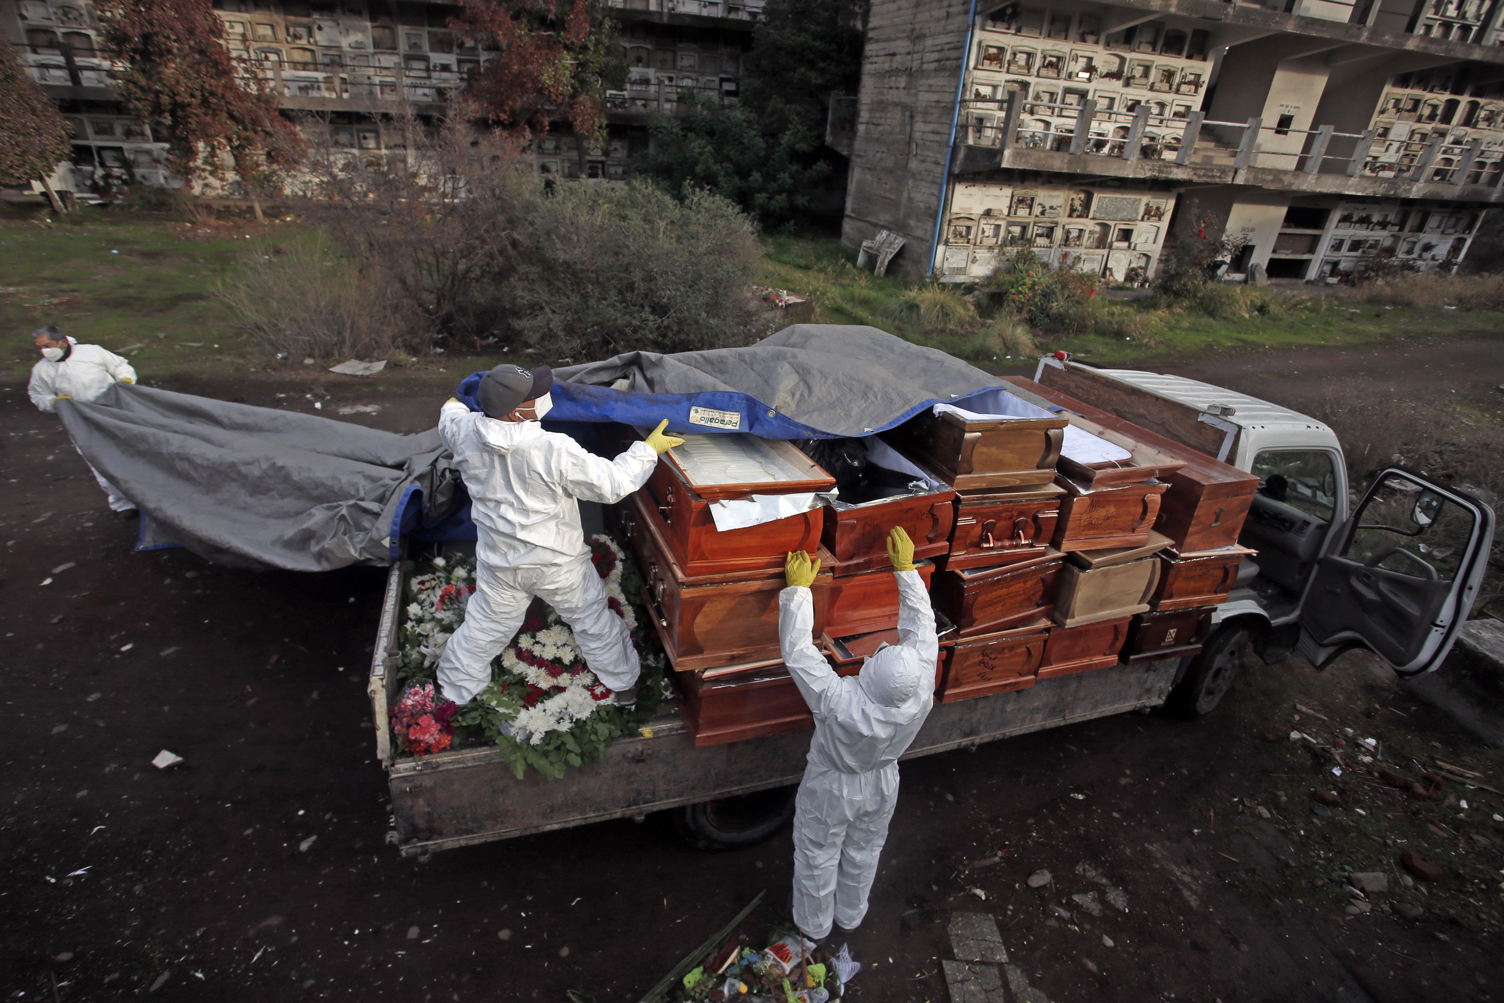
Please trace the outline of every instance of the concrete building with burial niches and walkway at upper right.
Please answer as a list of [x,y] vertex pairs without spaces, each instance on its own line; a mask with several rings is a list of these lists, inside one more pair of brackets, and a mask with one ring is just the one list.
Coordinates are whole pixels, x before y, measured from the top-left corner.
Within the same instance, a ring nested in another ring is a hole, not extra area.
[[872,0],[842,238],[899,233],[893,266],[940,281],[1020,248],[1140,281],[1175,232],[1230,238],[1230,274],[1453,268],[1501,200],[1501,18],[1499,0]]

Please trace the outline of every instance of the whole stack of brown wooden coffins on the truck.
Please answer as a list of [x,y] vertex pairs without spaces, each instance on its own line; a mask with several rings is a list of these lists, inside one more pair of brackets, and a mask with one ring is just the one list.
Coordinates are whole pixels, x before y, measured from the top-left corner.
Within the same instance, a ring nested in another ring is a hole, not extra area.
[[[1250,550],[1257,478],[1027,380],[865,439],[687,436],[621,505],[696,744],[811,726],[779,654],[790,550],[842,675],[898,641],[904,526],[942,624],[943,702],[1191,654]],[[835,489],[835,490],[833,490]]]

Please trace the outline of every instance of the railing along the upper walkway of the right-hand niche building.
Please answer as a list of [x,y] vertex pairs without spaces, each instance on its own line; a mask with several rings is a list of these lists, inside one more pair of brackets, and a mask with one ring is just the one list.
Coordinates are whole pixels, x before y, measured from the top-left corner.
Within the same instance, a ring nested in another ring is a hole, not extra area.
[[1006,99],[963,101],[957,140],[999,150],[1158,159],[1233,171],[1260,168],[1487,186],[1504,180],[1504,149],[1484,149],[1478,138],[1390,140],[1376,129],[1278,128],[1262,119],[1215,122],[1202,111],[1152,114],[1148,102],[1131,111],[1104,111],[1090,99],[1051,104],[1030,101],[1020,92]]

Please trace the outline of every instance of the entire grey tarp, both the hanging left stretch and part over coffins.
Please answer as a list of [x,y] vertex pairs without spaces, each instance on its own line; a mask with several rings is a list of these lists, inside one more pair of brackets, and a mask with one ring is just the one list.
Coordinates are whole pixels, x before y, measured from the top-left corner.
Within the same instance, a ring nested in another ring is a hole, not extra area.
[[[744,432],[778,439],[865,435],[929,402],[999,385],[877,328],[809,323],[744,349],[633,352],[556,376],[573,385],[555,391],[555,418],[671,417],[689,429],[692,408],[713,408],[734,412]],[[635,392],[611,389],[618,380]],[[141,508],[147,543],[180,543],[230,564],[387,564],[409,489],[423,490],[423,522],[433,523],[459,480],[438,430],[403,436],[120,385],[92,403],[60,402],[59,414],[84,459]]]

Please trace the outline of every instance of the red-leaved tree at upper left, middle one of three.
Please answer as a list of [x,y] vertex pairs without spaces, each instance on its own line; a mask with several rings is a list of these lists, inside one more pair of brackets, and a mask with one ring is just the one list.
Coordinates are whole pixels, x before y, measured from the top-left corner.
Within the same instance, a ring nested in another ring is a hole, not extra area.
[[305,147],[266,78],[235,65],[209,0],[99,0],[96,9],[116,89],[167,143],[171,173],[191,186],[233,170],[260,217],[257,192],[280,186]]

